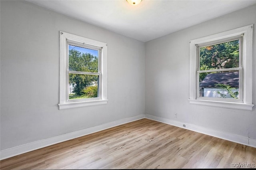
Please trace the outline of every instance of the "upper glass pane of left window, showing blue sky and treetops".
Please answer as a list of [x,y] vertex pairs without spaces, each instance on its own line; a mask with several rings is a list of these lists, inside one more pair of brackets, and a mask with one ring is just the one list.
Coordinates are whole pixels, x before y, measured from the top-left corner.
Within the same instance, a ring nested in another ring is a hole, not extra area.
[[98,54],[95,49],[68,45],[70,71],[98,72]]

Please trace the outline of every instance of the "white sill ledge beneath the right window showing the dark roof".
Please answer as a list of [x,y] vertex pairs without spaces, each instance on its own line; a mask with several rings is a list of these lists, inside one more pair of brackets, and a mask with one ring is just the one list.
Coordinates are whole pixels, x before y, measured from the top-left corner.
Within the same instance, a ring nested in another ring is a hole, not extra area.
[[213,106],[213,107],[223,107],[229,109],[240,109],[252,111],[253,104],[246,103],[233,103],[226,101],[208,101],[208,100],[198,100],[198,99],[188,99],[189,103],[196,105],[204,105],[204,106]]

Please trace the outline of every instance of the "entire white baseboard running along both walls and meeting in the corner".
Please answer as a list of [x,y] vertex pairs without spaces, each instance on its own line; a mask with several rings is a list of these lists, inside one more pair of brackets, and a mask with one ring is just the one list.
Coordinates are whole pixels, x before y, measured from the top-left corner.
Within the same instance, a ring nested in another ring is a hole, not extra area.
[[[151,119],[151,120],[154,120],[154,121],[166,123],[166,124],[173,125],[173,126],[180,127],[180,128],[185,128],[185,129],[192,130],[192,131],[195,131],[195,132],[207,134],[207,135],[210,135],[210,136],[214,136],[214,137],[217,137],[217,138],[222,138],[224,140],[229,140],[229,141],[232,141],[232,142],[236,142],[236,143],[240,143],[240,144],[244,144],[244,145],[252,146],[252,147],[256,148],[256,140],[255,139],[250,139],[248,137],[244,137],[244,136],[240,136],[240,135],[236,135],[236,134],[231,134],[231,133],[223,132],[223,131],[219,131],[219,130],[214,130],[214,129],[210,129],[210,128],[200,127],[198,125],[192,125],[192,124],[188,124],[188,123],[182,123],[182,122],[179,122],[179,121],[174,121],[174,120],[171,120],[171,119],[156,117],[156,116],[153,116],[153,115],[148,115],[148,114],[144,115],[144,114],[142,114],[142,115],[138,115],[138,116],[134,116],[134,117],[121,119],[121,120],[118,120],[118,121],[113,121],[113,122],[110,122],[110,123],[105,123],[103,125],[98,125],[98,126],[95,126],[95,127],[90,127],[90,128],[86,128],[86,129],[82,129],[82,130],[77,130],[77,131],[62,134],[62,135],[59,135],[59,136],[54,136],[54,137],[39,140],[39,141],[36,141],[36,142],[32,142],[32,143],[28,143],[28,144],[24,144],[24,145],[20,145],[20,146],[15,146],[15,147],[12,147],[12,148],[0,150],[0,160],[10,158],[12,156],[16,156],[16,155],[19,155],[19,154],[23,154],[23,153],[26,153],[26,152],[30,152],[32,150],[44,148],[46,146],[50,146],[50,145],[53,145],[53,144],[56,144],[56,143],[64,142],[64,141],[67,141],[67,140],[70,140],[70,139],[78,138],[80,136],[84,136],[84,135],[91,134],[91,133],[94,133],[94,132],[98,132],[98,131],[101,131],[101,130],[105,130],[105,129],[108,129],[108,128],[116,127],[118,125],[123,125],[125,123],[133,122],[133,121],[143,119],[143,118],[147,118],[147,119]],[[183,124],[185,124],[186,127],[183,127]]]

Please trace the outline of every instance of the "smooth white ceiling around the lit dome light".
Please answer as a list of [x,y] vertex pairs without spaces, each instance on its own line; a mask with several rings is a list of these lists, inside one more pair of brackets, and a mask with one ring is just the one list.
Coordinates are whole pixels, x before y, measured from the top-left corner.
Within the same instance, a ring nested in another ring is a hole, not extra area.
[[89,24],[147,42],[256,4],[256,0],[27,0]]

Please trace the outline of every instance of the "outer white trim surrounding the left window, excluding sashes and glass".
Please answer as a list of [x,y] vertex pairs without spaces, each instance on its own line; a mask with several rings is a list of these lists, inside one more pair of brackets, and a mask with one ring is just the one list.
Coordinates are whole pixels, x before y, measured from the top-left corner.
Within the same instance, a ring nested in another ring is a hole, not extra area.
[[[84,101],[68,101],[66,94],[68,88],[66,83],[68,69],[67,41],[80,42],[102,48],[101,56],[99,56],[101,57],[101,62],[99,62],[99,70],[101,74],[101,78],[99,80],[100,83],[98,85],[98,87],[101,89],[99,99],[92,98],[92,100],[86,99]],[[107,53],[108,51],[106,43],[60,31],[60,103],[58,104],[60,110],[107,104]]]

